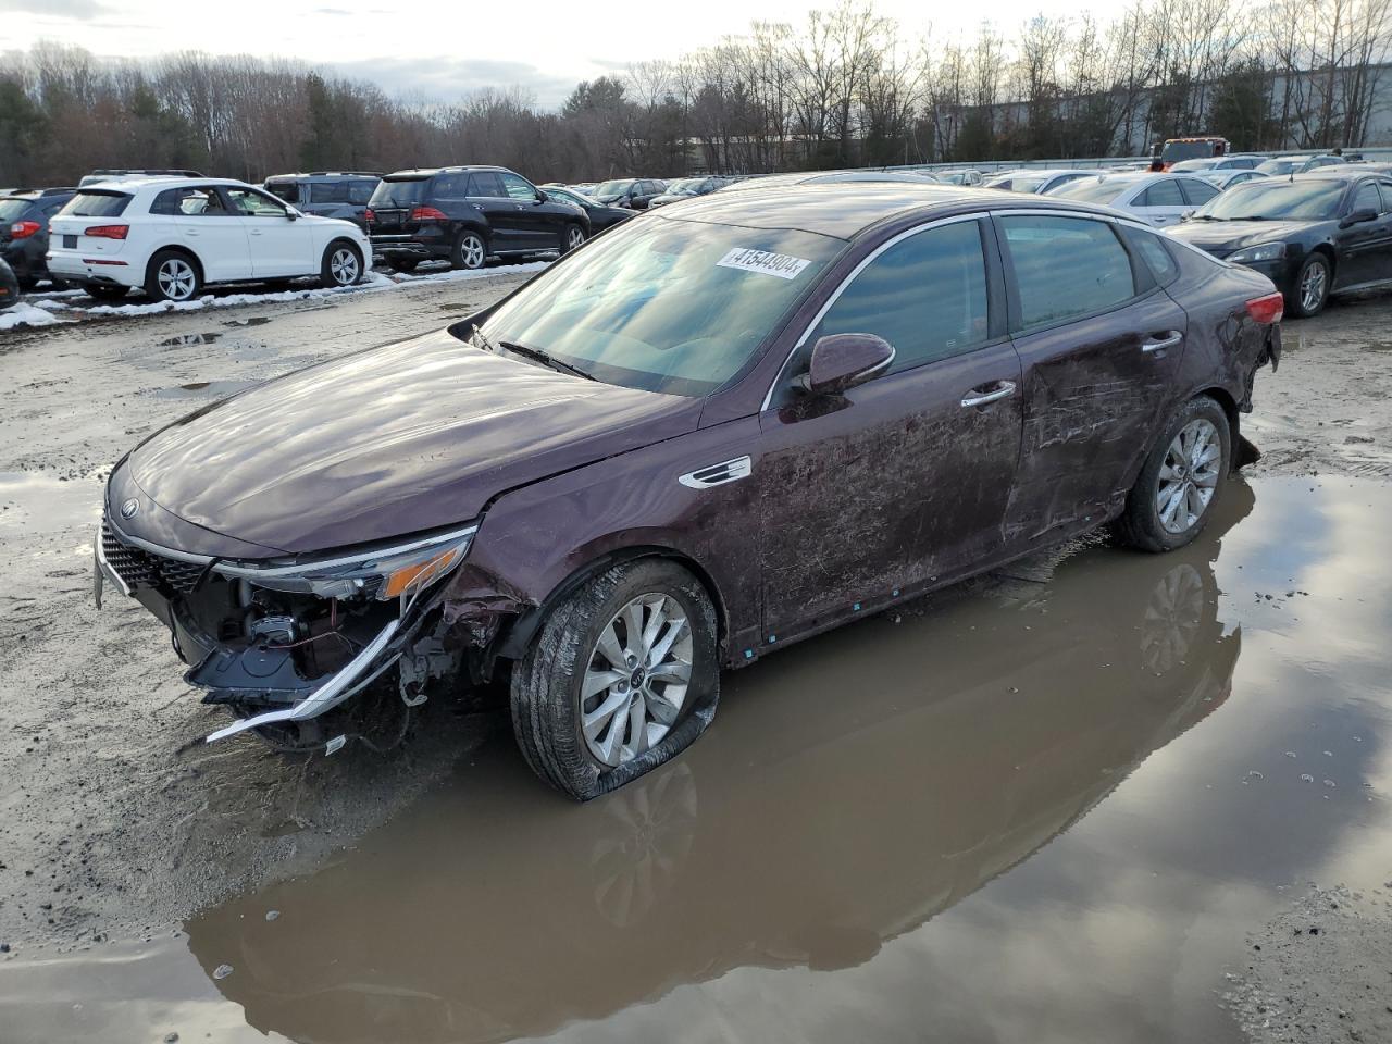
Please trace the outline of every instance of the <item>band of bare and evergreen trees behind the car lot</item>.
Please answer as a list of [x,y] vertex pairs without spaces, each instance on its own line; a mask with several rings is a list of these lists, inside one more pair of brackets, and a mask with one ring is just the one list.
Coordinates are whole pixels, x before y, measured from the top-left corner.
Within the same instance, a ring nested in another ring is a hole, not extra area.
[[752,174],[1139,155],[1205,131],[1239,149],[1357,146],[1389,46],[1392,0],[1132,0],[1105,24],[1041,15],[952,39],[844,0],[582,82],[547,110],[516,86],[406,100],[295,61],[40,43],[0,56],[0,185],[99,167]]

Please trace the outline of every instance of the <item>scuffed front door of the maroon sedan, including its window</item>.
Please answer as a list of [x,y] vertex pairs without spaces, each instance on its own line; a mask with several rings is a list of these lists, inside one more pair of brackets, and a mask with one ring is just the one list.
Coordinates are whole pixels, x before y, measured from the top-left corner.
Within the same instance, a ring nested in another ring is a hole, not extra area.
[[[983,231],[955,220],[881,248],[780,379],[760,416],[757,464],[766,640],[999,554],[1020,450],[1020,363]],[[877,334],[895,361],[841,395],[799,391],[812,347],[834,333]]]

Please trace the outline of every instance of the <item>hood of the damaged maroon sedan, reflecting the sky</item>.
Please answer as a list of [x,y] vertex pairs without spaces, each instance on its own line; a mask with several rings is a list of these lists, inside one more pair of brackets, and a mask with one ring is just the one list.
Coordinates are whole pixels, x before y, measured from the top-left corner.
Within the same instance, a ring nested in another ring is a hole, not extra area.
[[128,468],[178,518],[299,554],[465,522],[500,493],[699,418],[700,400],[572,377],[443,330],[217,402]]

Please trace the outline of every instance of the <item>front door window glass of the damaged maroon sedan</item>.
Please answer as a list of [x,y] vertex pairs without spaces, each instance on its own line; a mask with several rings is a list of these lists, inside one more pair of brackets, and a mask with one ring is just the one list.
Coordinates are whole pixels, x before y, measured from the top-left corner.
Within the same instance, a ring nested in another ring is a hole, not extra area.
[[842,291],[807,345],[846,333],[877,334],[892,344],[891,372],[984,344],[990,333],[980,224],[940,226],[889,246]]

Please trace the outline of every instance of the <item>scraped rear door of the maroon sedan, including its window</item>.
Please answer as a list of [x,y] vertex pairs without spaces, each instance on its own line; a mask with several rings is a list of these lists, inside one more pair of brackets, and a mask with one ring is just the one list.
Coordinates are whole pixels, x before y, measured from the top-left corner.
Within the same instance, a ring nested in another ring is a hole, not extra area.
[[1005,530],[1047,543],[1126,496],[1173,406],[1189,319],[1109,221],[998,213],[995,226],[1025,406]]

